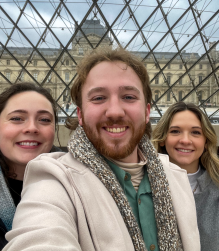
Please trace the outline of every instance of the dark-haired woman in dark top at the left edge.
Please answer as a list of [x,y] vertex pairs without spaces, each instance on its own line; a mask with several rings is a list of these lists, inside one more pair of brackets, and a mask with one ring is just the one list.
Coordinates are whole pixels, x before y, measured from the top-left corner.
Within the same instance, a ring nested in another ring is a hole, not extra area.
[[26,164],[53,146],[56,103],[42,87],[15,84],[0,94],[0,248],[21,199]]

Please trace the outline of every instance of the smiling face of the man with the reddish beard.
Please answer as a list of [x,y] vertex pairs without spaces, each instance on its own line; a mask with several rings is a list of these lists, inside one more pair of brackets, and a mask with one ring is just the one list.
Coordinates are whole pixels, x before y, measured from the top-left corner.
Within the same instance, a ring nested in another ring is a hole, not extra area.
[[138,161],[137,145],[149,121],[138,75],[123,62],[101,62],[91,69],[82,87],[79,124],[97,149],[113,159]]

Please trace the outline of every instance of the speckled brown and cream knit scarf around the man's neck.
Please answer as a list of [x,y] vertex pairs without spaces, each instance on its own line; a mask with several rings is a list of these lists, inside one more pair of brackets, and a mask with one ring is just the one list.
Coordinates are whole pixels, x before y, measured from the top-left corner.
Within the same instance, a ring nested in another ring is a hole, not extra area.
[[[182,251],[182,242],[163,165],[147,135],[143,136],[139,148],[147,158],[147,171],[154,202],[159,249],[160,251]],[[135,250],[147,250],[123,189],[115,174],[89,141],[81,126],[78,126],[74,131],[68,143],[68,150],[75,159],[86,165],[107,188],[120,210]]]

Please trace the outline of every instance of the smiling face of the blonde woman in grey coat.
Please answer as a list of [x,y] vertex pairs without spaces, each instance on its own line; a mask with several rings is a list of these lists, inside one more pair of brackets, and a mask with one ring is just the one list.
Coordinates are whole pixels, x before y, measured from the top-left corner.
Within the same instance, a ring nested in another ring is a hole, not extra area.
[[183,111],[173,116],[165,140],[166,151],[172,163],[189,173],[196,172],[205,142],[201,122],[193,112]]

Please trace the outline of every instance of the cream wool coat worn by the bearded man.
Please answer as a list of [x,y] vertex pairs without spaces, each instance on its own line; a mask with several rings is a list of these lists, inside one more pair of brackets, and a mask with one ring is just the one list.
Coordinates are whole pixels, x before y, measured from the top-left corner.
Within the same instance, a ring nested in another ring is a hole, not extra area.
[[[185,251],[199,251],[193,194],[186,171],[161,155]],[[134,251],[122,216],[99,179],[70,153],[29,162],[22,201],[4,251]]]

